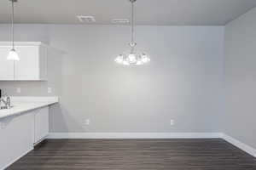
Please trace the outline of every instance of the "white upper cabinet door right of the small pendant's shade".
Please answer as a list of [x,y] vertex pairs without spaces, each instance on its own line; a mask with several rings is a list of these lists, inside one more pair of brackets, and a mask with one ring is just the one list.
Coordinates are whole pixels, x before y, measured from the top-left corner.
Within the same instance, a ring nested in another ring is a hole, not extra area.
[[15,61],[15,80],[39,80],[38,46],[17,46],[20,61]]

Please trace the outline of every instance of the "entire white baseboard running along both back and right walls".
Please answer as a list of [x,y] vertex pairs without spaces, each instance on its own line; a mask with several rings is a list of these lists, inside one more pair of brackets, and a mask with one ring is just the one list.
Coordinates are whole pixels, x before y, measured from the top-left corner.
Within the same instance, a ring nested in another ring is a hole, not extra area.
[[49,133],[48,139],[224,139],[251,156],[256,150],[225,133]]

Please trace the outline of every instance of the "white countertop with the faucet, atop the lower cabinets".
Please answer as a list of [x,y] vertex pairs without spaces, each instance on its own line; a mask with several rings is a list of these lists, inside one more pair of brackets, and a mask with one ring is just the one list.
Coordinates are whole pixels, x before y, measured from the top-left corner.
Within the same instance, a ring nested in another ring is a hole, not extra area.
[[58,103],[57,97],[11,97],[14,101],[11,109],[0,110],[0,119],[7,116],[20,115],[26,111],[32,111],[47,105]]

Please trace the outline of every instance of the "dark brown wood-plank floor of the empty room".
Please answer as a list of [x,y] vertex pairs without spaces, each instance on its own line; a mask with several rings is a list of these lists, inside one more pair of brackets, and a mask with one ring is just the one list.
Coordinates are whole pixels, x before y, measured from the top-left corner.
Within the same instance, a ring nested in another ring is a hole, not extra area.
[[223,139],[47,139],[8,169],[256,170],[256,159]]

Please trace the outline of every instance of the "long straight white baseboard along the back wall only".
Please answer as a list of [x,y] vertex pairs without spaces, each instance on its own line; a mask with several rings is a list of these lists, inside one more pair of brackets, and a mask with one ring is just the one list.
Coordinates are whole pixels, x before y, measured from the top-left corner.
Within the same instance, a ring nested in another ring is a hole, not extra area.
[[49,133],[48,139],[215,139],[221,133]]

